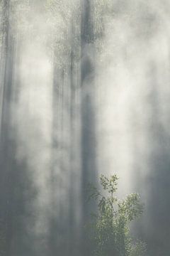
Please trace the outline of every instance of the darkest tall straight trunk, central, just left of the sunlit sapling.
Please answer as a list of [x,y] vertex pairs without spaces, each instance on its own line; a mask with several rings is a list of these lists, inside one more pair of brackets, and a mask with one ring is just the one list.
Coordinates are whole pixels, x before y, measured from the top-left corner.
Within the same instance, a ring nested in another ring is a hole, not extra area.
[[[88,183],[96,183],[96,124],[94,81],[93,1],[82,0],[81,6],[81,161],[83,223],[86,224],[95,206],[86,203]],[[86,255],[88,255],[86,247]]]

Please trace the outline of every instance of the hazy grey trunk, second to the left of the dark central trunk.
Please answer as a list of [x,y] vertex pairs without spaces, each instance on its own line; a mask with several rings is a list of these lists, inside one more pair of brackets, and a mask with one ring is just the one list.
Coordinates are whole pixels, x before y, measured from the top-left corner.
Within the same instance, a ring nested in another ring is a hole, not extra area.
[[[62,132],[63,132],[63,88],[64,68],[60,68],[54,63],[53,89],[52,89],[52,166],[51,166],[51,217],[50,217],[50,255],[56,252],[64,255],[62,235],[64,236],[63,213],[62,213]],[[63,238],[64,241],[64,238]]]

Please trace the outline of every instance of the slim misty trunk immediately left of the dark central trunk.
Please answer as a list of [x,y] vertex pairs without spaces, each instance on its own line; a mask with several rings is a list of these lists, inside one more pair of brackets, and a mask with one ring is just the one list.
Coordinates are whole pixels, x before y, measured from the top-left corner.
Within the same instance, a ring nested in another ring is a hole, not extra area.
[[70,54],[70,145],[69,145],[69,247],[72,256],[78,256],[80,252],[80,215],[81,215],[81,201],[79,194],[81,191],[81,174],[80,174],[80,160],[79,160],[79,88],[77,85],[78,74],[76,73],[76,55],[78,46],[75,43],[77,31],[75,31],[74,15],[72,15],[71,25],[71,54]]

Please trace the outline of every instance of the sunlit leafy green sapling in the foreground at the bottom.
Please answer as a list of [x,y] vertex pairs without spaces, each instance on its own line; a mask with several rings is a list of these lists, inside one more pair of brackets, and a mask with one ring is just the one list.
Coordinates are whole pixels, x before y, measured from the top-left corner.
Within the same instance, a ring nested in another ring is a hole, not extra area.
[[91,221],[90,231],[96,256],[145,256],[145,243],[135,244],[130,237],[130,222],[140,216],[143,206],[137,193],[131,193],[124,200],[115,196],[118,189],[116,175],[107,178],[101,175],[101,187],[89,186],[90,196],[98,201],[98,215]]

